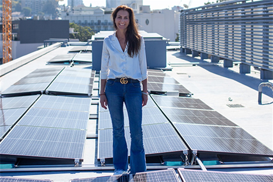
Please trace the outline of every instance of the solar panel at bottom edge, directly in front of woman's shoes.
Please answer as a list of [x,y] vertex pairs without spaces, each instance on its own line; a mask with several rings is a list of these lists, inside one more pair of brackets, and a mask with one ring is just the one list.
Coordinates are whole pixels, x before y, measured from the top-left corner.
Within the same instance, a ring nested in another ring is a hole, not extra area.
[[70,182],[178,182],[178,178],[174,169],[165,169],[159,171],[149,171],[149,172],[138,172],[136,174],[125,174],[125,175],[113,175],[113,176],[103,176],[103,177],[93,177],[84,179],[70,180]]

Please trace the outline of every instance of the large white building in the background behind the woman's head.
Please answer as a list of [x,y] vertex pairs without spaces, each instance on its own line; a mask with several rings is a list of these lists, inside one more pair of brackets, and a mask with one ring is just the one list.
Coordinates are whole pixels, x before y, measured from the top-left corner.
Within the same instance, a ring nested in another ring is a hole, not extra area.
[[[112,1],[108,3],[110,2]],[[61,12],[61,18],[69,20],[70,23],[89,26],[95,32],[114,30],[111,20],[112,11],[113,8],[75,7],[73,10]],[[135,18],[140,30],[156,32],[170,41],[175,41],[179,29],[179,11],[169,9],[151,11],[150,6],[141,5]]]

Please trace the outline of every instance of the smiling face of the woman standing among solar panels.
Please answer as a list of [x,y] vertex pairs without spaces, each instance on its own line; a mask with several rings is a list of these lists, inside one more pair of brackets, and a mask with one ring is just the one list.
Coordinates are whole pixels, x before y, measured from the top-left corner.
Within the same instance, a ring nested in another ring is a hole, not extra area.
[[130,24],[129,13],[126,10],[119,10],[115,18],[115,25],[118,30],[127,30]]

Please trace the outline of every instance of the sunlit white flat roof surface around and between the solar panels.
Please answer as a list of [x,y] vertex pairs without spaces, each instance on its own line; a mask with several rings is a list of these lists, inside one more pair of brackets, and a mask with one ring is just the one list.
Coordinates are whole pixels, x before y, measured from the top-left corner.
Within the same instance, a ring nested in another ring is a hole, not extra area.
[[[31,73],[37,68],[64,67],[60,65],[46,65],[46,62],[59,54],[67,53],[73,46],[59,47],[46,55],[43,55],[28,64],[25,64],[10,73],[0,77],[0,90],[4,91],[9,86]],[[221,65],[200,64],[192,66],[185,64],[190,62],[203,62],[200,58],[185,56],[179,51],[167,51],[168,63],[182,63],[173,65],[171,71],[165,71],[173,76],[185,88],[201,99],[211,108],[224,115],[226,118],[241,126],[263,144],[273,149],[273,99],[272,91],[263,88],[262,105],[258,104],[258,86],[261,82],[272,80],[260,80],[259,71],[252,70],[250,74],[239,74],[238,66],[223,68]],[[184,65],[183,65],[184,64]],[[90,65],[78,65],[75,67],[90,68]],[[95,79],[98,82],[98,79]],[[98,83],[95,83],[98,86]],[[96,87],[94,85],[94,87]],[[96,96],[97,92],[93,92]],[[232,101],[229,101],[232,99]],[[230,108],[227,104],[241,104],[244,108]],[[91,105],[91,114],[96,113],[96,105]],[[96,120],[90,120],[88,134],[96,134]],[[84,152],[83,165],[94,165],[96,139],[87,139]],[[31,160],[31,159],[30,159]],[[170,166],[171,168],[171,166]],[[209,169],[212,170],[212,169]],[[272,168],[229,168],[213,169],[219,171],[236,171],[253,174],[273,174]],[[75,178],[88,178],[95,176],[112,175],[113,170],[97,171],[25,171],[25,172],[1,172],[0,176],[18,178],[49,179],[54,181],[69,181]]]

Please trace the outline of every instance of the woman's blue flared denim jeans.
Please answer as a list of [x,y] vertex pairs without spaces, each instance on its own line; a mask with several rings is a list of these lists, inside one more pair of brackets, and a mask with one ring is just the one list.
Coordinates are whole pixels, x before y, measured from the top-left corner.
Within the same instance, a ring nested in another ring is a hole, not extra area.
[[115,169],[128,169],[128,148],[124,135],[123,103],[130,126],[130,172],[146,171],[142,133],[142,93],[140,83],[122,84],[107,80],[105,95],[113,126],[113,164]]

